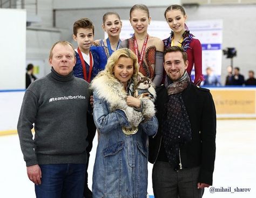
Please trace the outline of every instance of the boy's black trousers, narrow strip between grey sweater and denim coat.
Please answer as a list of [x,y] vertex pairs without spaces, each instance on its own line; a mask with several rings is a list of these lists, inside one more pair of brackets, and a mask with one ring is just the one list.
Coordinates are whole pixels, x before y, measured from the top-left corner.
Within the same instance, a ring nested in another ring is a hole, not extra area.
[[[86,140],[88,141],[88,146],[86,148],[86,153],[87,153],[87,163],[86,163],[86,171],[85,171],[85,182],[84,182],[84,189],[88,188],[88,165],[89,165],[89,158],[90,158],[90,152],[92,149],[92,141],[93,138],[95,137],[96,133],[96,126],[94,124],[93,116],[90,113],[87,113],[87,128],[88,128],[88,135]],[[85,191],[84,191],[85,195]]]

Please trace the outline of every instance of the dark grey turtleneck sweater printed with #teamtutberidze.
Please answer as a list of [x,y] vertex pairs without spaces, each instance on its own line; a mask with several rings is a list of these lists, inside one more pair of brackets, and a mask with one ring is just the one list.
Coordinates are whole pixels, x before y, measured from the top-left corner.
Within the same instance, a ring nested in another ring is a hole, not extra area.
[[28,87],[17,126],[26,166],[86,163],[88,87],[73,72],[60,76],[53,69]]

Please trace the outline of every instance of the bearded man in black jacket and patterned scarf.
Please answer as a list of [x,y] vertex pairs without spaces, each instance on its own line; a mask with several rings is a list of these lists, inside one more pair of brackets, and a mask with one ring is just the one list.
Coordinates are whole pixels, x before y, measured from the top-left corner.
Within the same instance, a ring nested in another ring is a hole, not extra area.
[[212,95],[193,85],[186,72],[186,52],[164,52],[165,85],[157,87],[158,133],[150,139],[156,198],[201,197],[212,185],[216,112]]

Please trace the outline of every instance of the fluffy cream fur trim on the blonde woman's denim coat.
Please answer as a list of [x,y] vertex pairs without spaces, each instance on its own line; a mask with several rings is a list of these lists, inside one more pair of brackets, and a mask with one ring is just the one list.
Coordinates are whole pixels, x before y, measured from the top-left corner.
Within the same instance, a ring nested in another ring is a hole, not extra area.
[[111,74],[100,73],[92,80],[91,88],[100,99],[105,100],[109,104],[111,112],[117,109],[124,111],[131,126],[138,126],[142,120],[150,119],[155,113],[154,104],[150,99],[142,99],[142,111],[128,106],[125,100],[127,93],[124,90],[123,84]]

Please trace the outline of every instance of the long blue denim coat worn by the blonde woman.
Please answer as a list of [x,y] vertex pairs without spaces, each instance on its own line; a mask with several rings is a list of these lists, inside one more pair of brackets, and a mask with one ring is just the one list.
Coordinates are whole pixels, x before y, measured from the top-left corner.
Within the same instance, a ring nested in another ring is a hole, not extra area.
[[[124,134],[122,127],[131,124],[126,116],[127,111],[113,109],[112,103],[116,101],[106,96],[107,93],[118,92],[118,89],[107,86],[98,90],[99,86],[104,86],[98,83],[96,90],[93,90],[93,118],[99,132],[93,168],[93,197],[144,198],[147,194],[148,136],[156,134],[158,121],[153,115],[138,124],[136,134]],[[142,103],[142,114],[146,114],[147,103]]]

